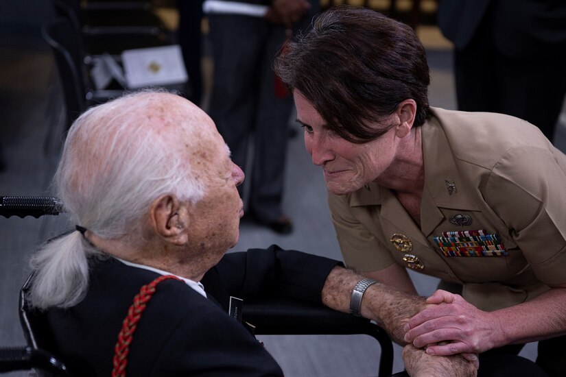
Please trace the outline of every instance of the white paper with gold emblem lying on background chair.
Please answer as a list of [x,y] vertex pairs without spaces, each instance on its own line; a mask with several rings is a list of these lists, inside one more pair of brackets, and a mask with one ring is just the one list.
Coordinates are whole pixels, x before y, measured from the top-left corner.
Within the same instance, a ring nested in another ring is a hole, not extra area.
[[188,80],[179,45],[125,50],[121,58],[128,88],[180,84]]

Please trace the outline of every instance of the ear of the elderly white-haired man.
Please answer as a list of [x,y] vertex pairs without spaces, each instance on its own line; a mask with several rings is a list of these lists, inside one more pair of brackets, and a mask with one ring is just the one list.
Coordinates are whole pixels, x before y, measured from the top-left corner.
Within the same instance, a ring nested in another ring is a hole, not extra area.
[[150,226],[169,243],[185,245],[188,225],[187,208],[175,195],[162,195],[150,205]]

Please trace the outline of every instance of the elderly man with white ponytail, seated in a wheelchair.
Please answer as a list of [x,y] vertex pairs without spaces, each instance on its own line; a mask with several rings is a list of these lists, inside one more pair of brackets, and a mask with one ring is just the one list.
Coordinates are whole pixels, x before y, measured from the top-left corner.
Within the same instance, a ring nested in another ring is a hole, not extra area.
[[[211,119],[182,97],[135,93],[75,121],[55,181],[78,231],[36,254],[30,292],[72,374],[108,376],[113,359],[120,372],[128,356],[132,376],[281,376],[227,315],[230,296],[352,308],[403,338],[421,298],[367,287],[335,260],[275,246],[225,256],[238,241],[242,180]],[[410,348],[405,357],[415,375],[475,374],[460,356]]]

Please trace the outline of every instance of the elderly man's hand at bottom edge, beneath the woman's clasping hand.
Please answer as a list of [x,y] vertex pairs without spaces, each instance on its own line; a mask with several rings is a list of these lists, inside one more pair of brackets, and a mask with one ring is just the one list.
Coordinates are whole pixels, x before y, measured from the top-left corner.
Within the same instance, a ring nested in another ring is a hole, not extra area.
[[477,357],[475,362],[467,361],[460,355],[431,356],[412,344],[403,348],[403,362],[411,377],[475,377],[477,376]]

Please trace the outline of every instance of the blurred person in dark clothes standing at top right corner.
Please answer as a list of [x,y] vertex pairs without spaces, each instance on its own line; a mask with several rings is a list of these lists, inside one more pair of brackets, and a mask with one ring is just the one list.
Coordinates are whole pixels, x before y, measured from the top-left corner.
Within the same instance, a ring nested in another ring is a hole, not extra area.
[[566,94],[566,1],[448,0],[458,110],[509,114],[554,140]]

